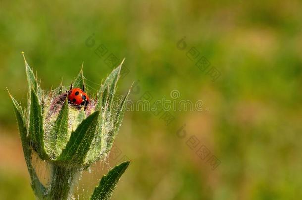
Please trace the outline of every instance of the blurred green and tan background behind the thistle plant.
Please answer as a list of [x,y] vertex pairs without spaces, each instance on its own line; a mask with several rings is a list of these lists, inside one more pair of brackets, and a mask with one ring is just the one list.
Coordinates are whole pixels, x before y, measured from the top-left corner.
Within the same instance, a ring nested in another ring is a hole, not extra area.
[[[0,0],[0,199],[34,199],[5,88],[24,105],[24,51],[46,90],[62,77],[70,85],[83,61],[95,87],[112,53],[129,69],[119,94],[136,81],[133,101],[145,92],[171,100],[177,89],[178,100],[204,102],[203,111],[171,111],[169,125],[152,112],[126,113],[115,141],[121,154],[109,162],[127,156],[132,164],[113,200],[301,200],[301,10],[298,0]],[[108,52],[100,58],[101,44]],[[216,81],[188,58],[192,47],[219,70]],[[217,168],[187,145],[191,136]],[[80,199],[108,168],[98,163],[83,175]]]

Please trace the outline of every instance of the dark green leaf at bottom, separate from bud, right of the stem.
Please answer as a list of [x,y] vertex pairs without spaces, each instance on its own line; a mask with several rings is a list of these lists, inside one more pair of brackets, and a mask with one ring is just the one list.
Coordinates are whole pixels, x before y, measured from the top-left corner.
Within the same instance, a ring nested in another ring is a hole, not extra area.
[[119,179],[129,166],[129,161],[115,166],[109,173],[102,177],[100,184],[95,188],[90,200],[110,200],[113,190]]

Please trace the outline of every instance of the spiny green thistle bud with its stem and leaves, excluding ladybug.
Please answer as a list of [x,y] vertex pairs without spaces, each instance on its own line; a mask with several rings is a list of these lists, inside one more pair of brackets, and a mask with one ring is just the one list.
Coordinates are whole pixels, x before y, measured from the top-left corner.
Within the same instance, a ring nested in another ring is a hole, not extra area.
[[[59,88],[47,92],[41,89],[27,64],[28,106],[22,109],[10,95],[19,126],[25,161],[31,186],[40,200],[67,200],[77,176],[91,164],[107,157],[121,125],[129,92],[115,108],[113,98],[121,65],[112,71],[87,106],[69,104],[67,92]],[[74,87],[85,87],[81,69]],[[50,183],[42,184],[32,163],[33,155],[51,168]],[[91,200],[109,200],[129,161],[114,167],[95,188]]]

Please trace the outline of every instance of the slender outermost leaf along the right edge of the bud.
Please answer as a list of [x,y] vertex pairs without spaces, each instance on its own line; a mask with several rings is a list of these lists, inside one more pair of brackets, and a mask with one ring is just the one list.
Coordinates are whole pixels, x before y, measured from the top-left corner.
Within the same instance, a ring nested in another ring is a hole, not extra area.
[[108,138],[107,138],[107,151],[110,151],[111,147],[112,147],[112,143],[114,141],[115,136],[117,135],[118,131],[119,131],[119,127],[122,124],[123,118],[124,118],[124,114],[125,114],[125,106],[128,100],[130,94],[130,90],[127,92],[127,94],[125,95],[123,101],[121,102],[115,116],[113,117],[113,121],[114,121],[114,126],[113,129],[109,132]]

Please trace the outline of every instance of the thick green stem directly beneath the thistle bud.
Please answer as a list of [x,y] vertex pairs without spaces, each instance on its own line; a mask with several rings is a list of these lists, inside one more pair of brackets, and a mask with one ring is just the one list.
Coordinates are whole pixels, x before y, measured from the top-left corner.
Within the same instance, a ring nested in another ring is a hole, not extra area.
[[54,165],[49,195],[51,200],[69,199],[76,173],[77,170],[75,168]]

